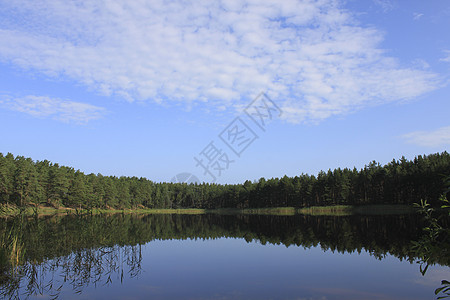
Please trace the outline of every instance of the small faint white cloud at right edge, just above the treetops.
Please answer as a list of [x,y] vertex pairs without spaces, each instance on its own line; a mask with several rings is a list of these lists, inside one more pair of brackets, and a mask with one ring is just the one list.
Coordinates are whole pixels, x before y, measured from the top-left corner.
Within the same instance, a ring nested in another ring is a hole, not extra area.
[[408,143],[425,147],[450,145],[450,126],[434,131],[415,131],[402,136]]

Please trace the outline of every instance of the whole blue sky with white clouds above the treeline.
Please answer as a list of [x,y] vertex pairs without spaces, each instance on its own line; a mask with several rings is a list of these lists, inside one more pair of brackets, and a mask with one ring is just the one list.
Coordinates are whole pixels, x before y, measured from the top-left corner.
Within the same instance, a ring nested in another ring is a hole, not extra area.
[[0,152],[237,183],[444,151],[448,28],[445,0],[0,0]]

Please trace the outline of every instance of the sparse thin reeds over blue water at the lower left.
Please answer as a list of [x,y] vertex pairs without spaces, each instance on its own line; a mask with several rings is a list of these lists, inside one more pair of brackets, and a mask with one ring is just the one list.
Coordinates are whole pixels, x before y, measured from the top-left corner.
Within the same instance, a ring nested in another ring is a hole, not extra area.
[[122,283],[125,277],[138,276],[141,262],[141,245],[80,249],[42,263],[28,261],[12,270],[13,282],[2,282],[1,295],[10,299],[31,295],[58,298],[67,286],[80,294],[90,285]]

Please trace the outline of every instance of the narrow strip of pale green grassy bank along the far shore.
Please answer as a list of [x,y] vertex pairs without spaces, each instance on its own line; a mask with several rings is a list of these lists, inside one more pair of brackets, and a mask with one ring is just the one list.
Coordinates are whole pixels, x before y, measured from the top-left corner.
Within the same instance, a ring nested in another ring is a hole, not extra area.
[[253,209],[236,209],[236,208],[220,208],[220,209],[194,209],[194,208],[180,208],[180,209],[151,209],[151,208],[137,208],[137,209],[92,209],[78,210],[74,208],[52,208],[52,207],[27,207],[19,209],[16,206],[0,206],[0,217],[15,216],[19,214],[24,215],[58,215],[58,214],[115,214],[115,213],[138,213],[138,214],[252,214],[252,215],[280,215],[292,216],[295,214],[303,215],[332,215],[332,216],[346,216],[352,214],[405,214],[413,213],[414,208],[407,205],[365,205],[365,206],[351,206],[351,205],[335,205],[335,206],[312,206],[305,208],[294,207],[271,207],[271,208],[253,208]]

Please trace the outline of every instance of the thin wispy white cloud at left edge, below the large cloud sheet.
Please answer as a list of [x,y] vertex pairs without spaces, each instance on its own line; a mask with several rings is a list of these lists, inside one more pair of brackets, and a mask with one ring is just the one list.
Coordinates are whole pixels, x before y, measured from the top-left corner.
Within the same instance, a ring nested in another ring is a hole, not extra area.
[[77,124],[85,124],[99,119],[105,113],[104,108],[91,104],[33,95],[22,98],[3,97],[0,104],[5,108],[33,117],[50,117],[58,121]]

